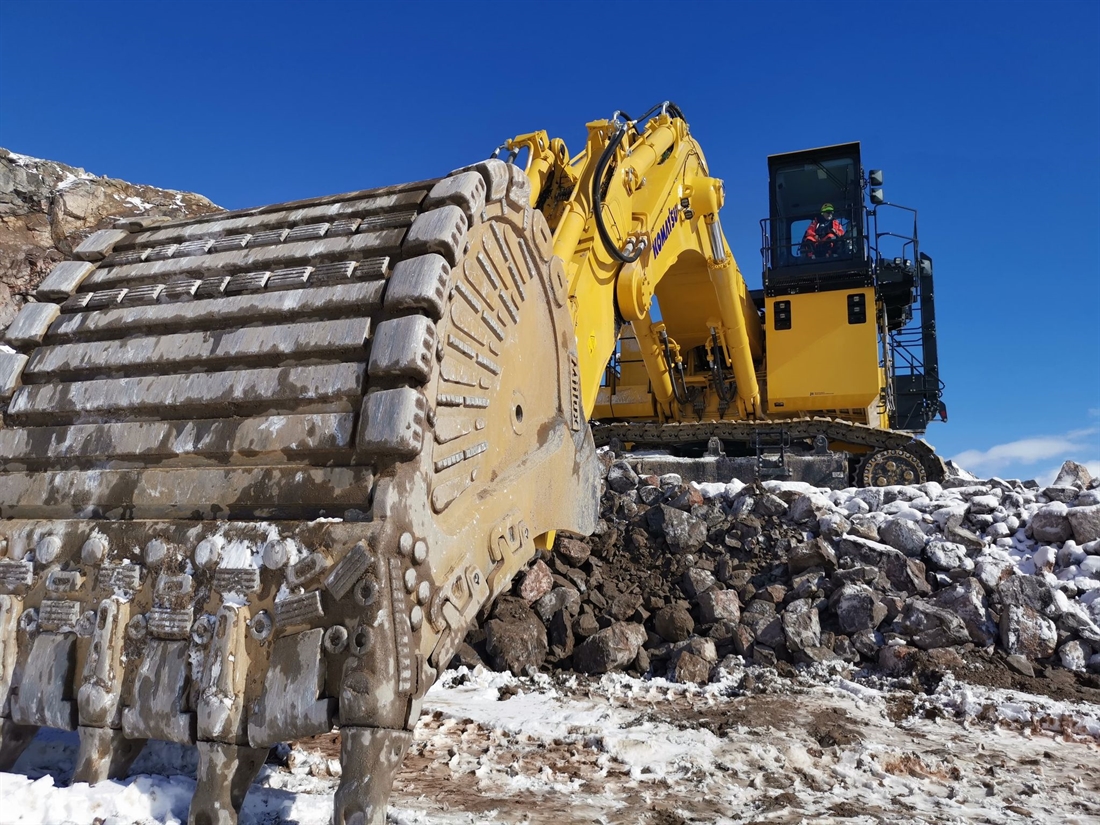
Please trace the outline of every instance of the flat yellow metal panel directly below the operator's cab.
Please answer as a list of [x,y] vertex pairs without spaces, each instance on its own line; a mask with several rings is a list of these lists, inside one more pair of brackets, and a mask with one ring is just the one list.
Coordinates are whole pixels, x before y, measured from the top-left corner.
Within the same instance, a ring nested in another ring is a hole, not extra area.
[[[866,307],[862,322],[849,322],[849,300]],[[873,289],[784,295],[768,298],[766,309],[769,413],[858,409],[878,399]]]

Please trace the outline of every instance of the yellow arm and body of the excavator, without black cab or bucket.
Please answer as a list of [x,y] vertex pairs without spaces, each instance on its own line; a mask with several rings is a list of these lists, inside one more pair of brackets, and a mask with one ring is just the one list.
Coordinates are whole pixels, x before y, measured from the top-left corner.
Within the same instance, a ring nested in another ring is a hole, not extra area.
[[[761,318],[722,234],[722,182],[707,175],[688,124],[662,113],[632,143],[614,146],[619,128],[590,123],[587,146],[572,158],[546,133],[508,144],[530,153],[531,202],[541,205],[564,263],[585,414],[654,422],[828,416],[886,426],[873,287],[768,298]],[[597,216],[617,250],[640,248],[635,261],[616,260]],[[789,324],[777,328],[777,307]]]

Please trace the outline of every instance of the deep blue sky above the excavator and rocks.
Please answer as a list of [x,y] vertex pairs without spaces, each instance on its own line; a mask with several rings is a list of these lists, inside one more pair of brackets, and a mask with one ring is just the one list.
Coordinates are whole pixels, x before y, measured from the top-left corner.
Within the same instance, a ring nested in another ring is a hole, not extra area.
[[0,145],[245,207],[680,105],[759,285],[768,154],[862,142],[936,261],[981,474],[1100,473],[1100,4],[0,0]]

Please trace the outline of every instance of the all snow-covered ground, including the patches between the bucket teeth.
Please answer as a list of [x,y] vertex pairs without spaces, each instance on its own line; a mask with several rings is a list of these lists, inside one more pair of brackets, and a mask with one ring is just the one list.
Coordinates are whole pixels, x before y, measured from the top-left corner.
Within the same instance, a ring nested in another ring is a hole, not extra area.
[[[0,774],[0,822],[186,822],[195,755],[151,746],[124,782],[58,787],[74,735]],[[268,765],[248,825],[327,825],[336,734]],[[1100,706],[977,688],[932,694],[839,669],[781,679],[727,660],[700,688],[622,674],[464,668],[428,694],[389,821],[474,823],[1096,823]]]

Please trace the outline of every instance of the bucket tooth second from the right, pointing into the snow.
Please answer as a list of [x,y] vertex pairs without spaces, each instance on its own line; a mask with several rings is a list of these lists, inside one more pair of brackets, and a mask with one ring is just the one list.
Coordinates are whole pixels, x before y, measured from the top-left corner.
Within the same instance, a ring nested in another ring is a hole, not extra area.
[[198,781],[187,825],[237,825],[244,796],[270,750],[220,741],[198,743]]

